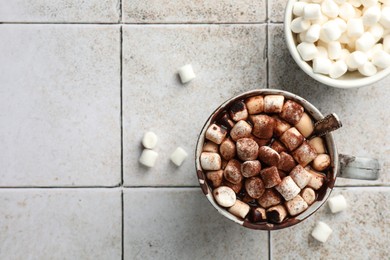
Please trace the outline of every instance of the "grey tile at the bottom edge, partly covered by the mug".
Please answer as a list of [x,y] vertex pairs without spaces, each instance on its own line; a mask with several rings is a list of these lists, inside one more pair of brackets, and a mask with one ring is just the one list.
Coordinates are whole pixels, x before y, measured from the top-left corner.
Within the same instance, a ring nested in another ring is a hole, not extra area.
[[265,259],[268,232],[222,217],[199,188],[124,190],[124,259]]

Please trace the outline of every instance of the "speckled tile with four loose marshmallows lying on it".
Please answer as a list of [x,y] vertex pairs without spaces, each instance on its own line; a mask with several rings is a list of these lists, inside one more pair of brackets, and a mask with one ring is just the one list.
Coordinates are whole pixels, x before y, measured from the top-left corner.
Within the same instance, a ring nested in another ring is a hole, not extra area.
[[[124,26],[124,184],[196,185],[194,150],[203,124],[220,103],[266,85],[264,25]],[[221,40],[223,39],[223,40]],[[181,84],[178,68],[197,77]],[[138,163],[146,131],[159,137],[156,166]],[[189,156],[170,162],[176,147]]]

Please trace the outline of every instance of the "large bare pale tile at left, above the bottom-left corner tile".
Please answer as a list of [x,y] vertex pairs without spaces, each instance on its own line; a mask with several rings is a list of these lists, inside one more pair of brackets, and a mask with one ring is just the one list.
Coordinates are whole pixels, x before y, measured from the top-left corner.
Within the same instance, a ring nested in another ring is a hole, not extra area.
[[0,25],[0,186],[121,182],[119,26]]

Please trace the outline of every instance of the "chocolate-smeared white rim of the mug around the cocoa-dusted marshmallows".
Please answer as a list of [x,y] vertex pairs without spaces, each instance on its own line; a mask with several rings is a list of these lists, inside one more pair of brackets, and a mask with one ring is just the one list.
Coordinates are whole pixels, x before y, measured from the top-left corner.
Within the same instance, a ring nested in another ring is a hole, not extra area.
[[234,216],[233,214],[228,212],[225,208],[219,206],[212,195],[212,188],[208,185],[205,173],[203,172],[200,165],[200,154],[202,153],[203,144],[205,142],[206,130],[208,129],[210,124],[214,122],[216,116],[222,113],[223,111],[225,111],[225,109],[228,108],[233,102],[251,96],[257,96],[257,95],[283,95],[287,99],[299,102],[299,104],[301,104],[304,107],[305,112],[308,112],[310,116],[314,118],[314,120],[320,120],[324,118],[322,113],[313,104],[311,104],[306,99],[288,91],[279,90],[279,89],[254,89],[247,92],[243,92],[239,95],[236,95],[224,101],[210,114],[210,116],[206,120],[205,124],[202,127],[202,130],[200,131],[196,143],[195,168],[196,168],[199,185],[202,189],[203,194],[207,197],[208,201],[213,205],[213,207],[220,214],[246,228],[256,229],[256,230],[278,230],[278,229],[291,227],[302,222],[303,220],[305,220],[306,218],[314,214],[319,208],[323,206],[323,204],[325,204],[325,202],[327,201],[328,197],[330,196],[333,190],[334,183],[336,181],[337,172],[339,171],[339,158],[338,158],[337,147],[335,144],[333,134],[328,133],[324,137],[325,137],[328,153],[331,157],[331,170],[330,170],[331,172],[329,173],[330,176],[327,176],[327,188],[324,195],[322,196],[322,198],[316,199],[316,201],[313,204],[311,204],[304,212],[298,214],[295,217],[288,219],[287,221],[283,221],[280,224],[271,224],[268,222],[252,223],[248,220],[241,219],[239,217]]

